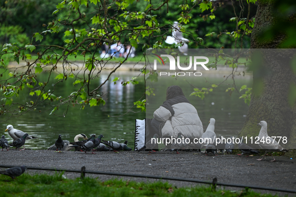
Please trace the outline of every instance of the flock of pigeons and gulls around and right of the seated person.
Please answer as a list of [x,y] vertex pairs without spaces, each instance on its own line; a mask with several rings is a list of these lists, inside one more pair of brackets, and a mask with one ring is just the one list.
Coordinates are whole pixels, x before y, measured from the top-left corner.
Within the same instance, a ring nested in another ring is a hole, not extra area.
[[[271,152],[271,156],[273,158],[273,160],[270,160],[270,161],[275,161],[275,158],[273,157],[272,155],[272,152],[278,152],[278,151],[281,151],[281,152],[287,152],[287,151],[290,151],[289,149],[285,149],[283,148],[280,144],[277,143],[276,140],[270,140],[270,143],[267,143],[266,141],[263,142],[263,140],[261,141],[261,139],[266,139],[266,137],[268,137],[268,134],[267,134],[267,123],[266,121],[262,120],[260,121],[257,125],[260,125],[261,126],[261,129],[259,131],[259,147],[260,149],[262,150],[265,150],[265,154],[262,156],[262,158],[267,154],[267,152]],[[221,137],[216,137],[216,133],[215,133],[215,119],[214,118],[210,118],[210,121],[209,121],[209,125],[208,127],[206,128],[206,131],[202,134],[201,138],[202,138],[202,141],[208,141],[206,140],[207,139],[211,139],[211,143],[194,143],[194,145],[192,147],[194,147],[194,149],[198,149],[200,151],[200,148],[205,148],[205,153],[206,155],[211,152],[213,153],[214,155],[215,152],[217,152],[217,149],[220,150],[220,152],[224,153],[224,150],[226,150],[227,154],[228,152],[229,153],[232,153],[232,150],[235,149],[235,143],[233,140],[231,140],[230,143],[227,143],[227,138],[226,138],[226,141],[224,140],[224,142],[221,142]],[[158,138],[158,134],[154,134],[153,138]],[[181,132],[178,133],[178,136],[177,138],[182,138],[183,135]],[[234,137],[230,137],[231,139],[233,139]],[[219,139],[219,140],[218,140]],[[239,154],[239,155],[242,155],[242,154],[259,154],[260,151],[257,150],[257,149],[254,149],[252,148],[251,146],[245,144],[242,140],[241,137],[239,137],[240,139],[240,143],[237,144],[237,149],[239,149],[242,153]],[[177,140],[176,140],[177,141]],[[179,140],[181,141],[181,140]],[[217,141],[217,143],[216,143]],[[190,143],[189,143],[190,144]],[[216,146],[215,146],[216,144]],[[141,151],[141,150],[149,150],[149,151],[154,151],[155,149],[157,149],[158,146],[157,146],[157,143],[155,140],[148,140],[145,144],[145,146],[141,149],[139,149],[138,151]],[[184,143],[184,142],[181,142],[181,143],[178,143],[178,142],[174,142],[174,143],[170,143],[169,145],[167,145],[166,147],[164,147],[162,150],[170,150],[170,151],[176,151],[177,153],[178,150],[182,150],[182,149],[190,149],[190,146],[188,146],[188,143]],[[192,148],[191,148],[192,149]],[[257,160],[262,160],[262,158],[260,159],[257,159]]]

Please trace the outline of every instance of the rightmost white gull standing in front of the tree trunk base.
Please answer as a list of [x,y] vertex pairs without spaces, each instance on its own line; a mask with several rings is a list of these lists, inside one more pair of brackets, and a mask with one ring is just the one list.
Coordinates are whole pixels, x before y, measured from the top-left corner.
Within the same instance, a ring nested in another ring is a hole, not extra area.
[[[287,152],[287,151],[291,151],[289,149],[285,149],[283,148],[281,145],[279,145],[277,143],[276,140],[273,140],[273,138],[270,137],[270,143],[266,142],[266,137],[268,137],[267,134],[267,122],[262,120],[259,123],[257,123],[257,125],[261,126],[260,132],[259,132],[259,145],[260,147],[262,147],[262,149],[265,149],[265,154],[262,156],[262,158],[267,154],[267,152],[271,152],[271,156],[273,158],[273,160],[270,161],[275,161],[275,158],[272,155],[272,152]],[[264,140],[264,143],[262,141]],[[257,160],[262,160],[262,158],[257,159]]]

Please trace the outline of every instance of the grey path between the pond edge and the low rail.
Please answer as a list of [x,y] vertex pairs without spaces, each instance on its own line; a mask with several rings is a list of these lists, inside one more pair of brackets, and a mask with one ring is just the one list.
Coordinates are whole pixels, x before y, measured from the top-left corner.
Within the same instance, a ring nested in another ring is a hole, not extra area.
[[[158,151],[113,151],[97,152],[96,154],[53,150],[3,150],[0,151],[0,164],[27,165],[38,167],[53,167],[64,169],[78,169],[86,166],[86,170],[161,175],[171,177],[192,178],[211,181],[217,177],[218,182],[247,184],[265,187],[275,187],[296,190],[296,163],[294,158],[286,156],[266,156],[258,161],[260,156],[239,156],[234,154],[219,154],[217,156],[205,155],[201,152],[176,152]],[[26,170],[36,173],[37,170]],[[44,173],[53,173],[42,171]],[[67,178],[76,178],[80,173],[65,172]],[[100,180],[115,178],[117,176],[89,174],[86,176],[99,177]],[[151,178],[118,177],[136,181],[155,181]],[[196,185],[193,182],[169,181],[173,185]],[[240,190],[238,187],[225,187],[231,190]],[[256,190],[269,192],[266,190]],[[275,192],[270,192],[275,193]],[[284,195],[285,193],[279,193]],[[294,196],[296,194],[288,194]]]

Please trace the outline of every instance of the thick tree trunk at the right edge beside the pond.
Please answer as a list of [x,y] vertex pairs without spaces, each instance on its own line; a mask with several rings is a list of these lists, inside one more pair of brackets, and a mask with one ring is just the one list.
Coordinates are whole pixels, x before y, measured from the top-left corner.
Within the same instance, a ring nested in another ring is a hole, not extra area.
[[[251,48],[261,49],[263,61],[253,65],[253,93],[249,110],[240,136],[258,136],[261,120],[267,122],[269,136],[286,136],[289,140],[285,147],[296,146],[296,110],[289,103],[290,86],[296,84],[296,77],[290,66],[290,58],[295,54],[293,49],[278,48],[285,38],[284,34],[277,34],[272,39],[261,39],[260,33],[266,27],[274,25],[272,0],[258,2],[256,20],[251,35]],[[254,54],[258,51],[254,49]],[[280,51],[279,51],[280,50]],[[294,50],[295,51],[295,50]],[[290,52],[290,54],[289,54]],[[258,61],[254,58],[252,61]],[[295,103],[295,102],[293,102]],[[280,144],[281,141],[280,141]]]

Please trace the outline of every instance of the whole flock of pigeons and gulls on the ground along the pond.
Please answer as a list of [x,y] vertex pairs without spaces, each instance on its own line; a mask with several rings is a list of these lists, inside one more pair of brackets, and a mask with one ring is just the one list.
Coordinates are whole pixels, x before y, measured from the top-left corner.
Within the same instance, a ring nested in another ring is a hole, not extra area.
[[[264,137],[266,139],[266,137],[268,137],[266,121],[262,120],[258,123],[258,125],[261,126],[261,129],[260,129],[260,132],[258,135],[259,139],[261,139],[262,137]],[[234,149],[235,144],[234,143],[215,143],[215,140],[217,140],[217,137],[214,132],[214,129],[215,129],[215,119],[210,118],[209,125],[208,125],[206,131],[202,134],[201,138],[203,138],[203,139],[211,138],[213,140],[212,141],[213,143],[200,144],[199,147],[205,147],[206,155],[209,152],[215,154],[215,152],[217,152],[217,149],[219,149],[222,153],[223,153],[224,149],[226,149],[227,154],[228,154],[228,152],[232,153],[232,150]],[[26,139],[38,138],[38,137],[35,137],[32,135],[29,135],[28,133],[25,133],[21,130],[15,129],[13,127],[13,125],[11,125],[11,124],[7,126],[7,129],[5,131],[9,132],[9,135],[14,139],[14,141],[9,144],[8,140],[5,138],[5,135],[2,135],[2,138],[0,139],[0,146],[2,147],[2,150],[3,150],[3,148],[6,148],[7,150],[9,150],[10,146],[15,146],[16,149],[18,149],[23,145],[24,145],[24,149],[25,149]],[[60,151],[61,150],[68,151],[68,150],[72,150],[75,148],[75,150],[85,151],[85,153],[87,151],[91,151],[92,153],[94,153],[93,152],[94,150],[99,150],[99,151],[132,150],[132,148],[127,146],[127,141],[125,141],[124,143],[119,143],[116,141],[106,141],[106,140],[103,140],[102,137],[104,137],[102,134],[100,134],[97,138],[96,138],[96,135],[93,134],[90,138],[88,138],[85,134],[81,133],[81,134],[78,134],[75,136],[74,142],[69,142],[68,140],[63,140],[62,135],[59,135],[55,144],[50,146],[48,148],[48,150],[55,150],[56,149],[58,151],[58,149],[60,149]],[[159,136],[158,136],[158,134],[155,134],[153,137],[157,138]],[[178,138],[181,138],[181,137],[182,137],[182,133],[179,133]],[[79,138],[83,138],[84,140],[79,141]],[[250,147],[249,145],[243,143],[241,140],[241,137],[239,137],[239,139],[240,139],[240,143],[238,144],[238,149],[242,152],[242,154],[259,153],[259,150],[256,150],[256,149]],[[221,140],[221,138],[220,138],[220,140]],[[214,144],[217,144],[217,146],[215,146]],[[152,141],[149,140],[146,142],[145,146],[143,148],[141,148],[139,151],[154,149],[155,145],[156,145],[156,143],[152,143]],[[164,150],[176,150],[176,152],[179,153],[178,150],[180,150],[183,145],[184,144],[182,144],[182,143],[170,144],[169,147],[165,147]],[[289,151],[289,149],[283,148],[275,140],[273,140],[270,143],[266,143],[266,141],[264,143],[262,143],[261,140],[259,140],[259,146],[263,150],[265,150],[265,154],[262,156],[262,158],[266,155],[267,152]],[[171,148],[171,147],[174,147],[174,148]],[[24,150],[24,149],[22,149],[22,150]],[[271,153],[271,156],[273,157],[272,153]],[[257,159],[257,160],[262,160],[262,158]],[[275,161],[275,158],[273,157],[273,160],[270,160],[270,161]],[[11,167],[6,170],[0,171],[0,174],[5,174],[5,175],[11,176],[13,179],[15,179],[17,176],[23,174],[25,172],[26,168],[27,167],[25,165],[15,166],[15,167]]]

